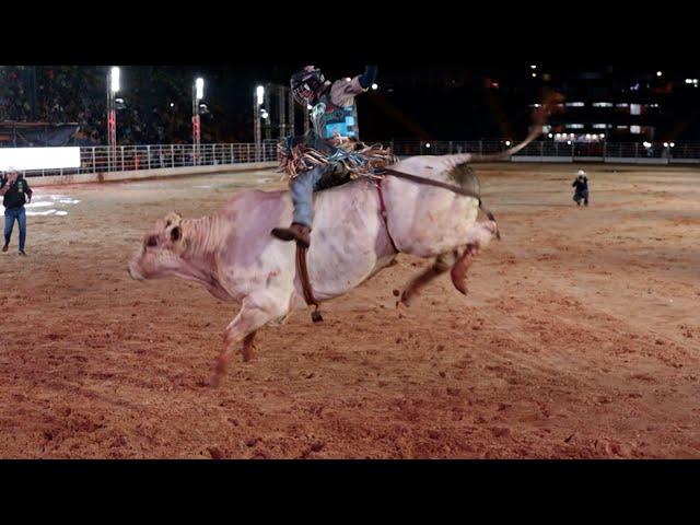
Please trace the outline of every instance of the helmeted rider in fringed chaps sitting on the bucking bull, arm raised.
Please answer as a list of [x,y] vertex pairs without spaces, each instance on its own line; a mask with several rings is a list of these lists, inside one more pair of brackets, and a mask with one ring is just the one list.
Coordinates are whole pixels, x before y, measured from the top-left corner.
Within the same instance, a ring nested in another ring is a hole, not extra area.
[[369,173],[393,160],[388,150],[366,148],[359,142],[354,97],[372,85],[376,69],[368,66],[361,75],[332,83],[314,66],[306,66],[292,75],[292,95],[304,108],[311,108],[313,129],[303,137],[290,137],[279,145],[282,171],[290,177],[294,214],[289,228],[272,230],[276,237],[296,241],[307,248],[313,192],[345,184],[352,175]]

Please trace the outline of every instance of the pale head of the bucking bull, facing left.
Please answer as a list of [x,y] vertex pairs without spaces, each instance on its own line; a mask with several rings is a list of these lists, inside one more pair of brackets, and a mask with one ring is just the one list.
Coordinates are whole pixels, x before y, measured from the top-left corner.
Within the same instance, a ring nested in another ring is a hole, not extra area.
[[153,279],[182,270],[180,256],[187,248],[182,221],[179,213],[170,212],[155,222],[155,228],[144,235],[141,248],[129,262],[129,276],[138,280]]

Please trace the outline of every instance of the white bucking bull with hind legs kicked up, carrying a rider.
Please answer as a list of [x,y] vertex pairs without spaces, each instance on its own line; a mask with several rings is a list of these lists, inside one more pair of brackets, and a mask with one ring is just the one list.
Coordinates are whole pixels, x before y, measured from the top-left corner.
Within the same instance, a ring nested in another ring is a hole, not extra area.
[[[478,191],[476,175],[465,164],[474,160],[470,154],[415,156],[392,168]],[[398,252],[436,257],[433,267],[404,291],[404,302],[450,267],[455,287],[466,293],[469,261],[498,232],[494,221],[477,222],[478,199],[393,176],[384,178],[382,195],[385,218],[380,192],[366,179],[315,194],[306,260],[316,300],[327,301],[360,285],[389,266]],[[178,276],[200,282],[220,300],[241,303],[225,329],[214,383],[235,350],[241,348],[244,360],[250,358],[258,329],[305,304],[296,246],[270,234],[291,218],[288,191],[241,191],[210,217],[187,220],[168,213],[145,235],[129,264],[135,279]]]

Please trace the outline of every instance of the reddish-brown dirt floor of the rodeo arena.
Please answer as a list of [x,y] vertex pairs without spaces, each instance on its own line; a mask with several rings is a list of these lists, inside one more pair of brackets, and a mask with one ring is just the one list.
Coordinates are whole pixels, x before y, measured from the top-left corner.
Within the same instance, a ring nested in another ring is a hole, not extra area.
[[700,170],[480,166],[503,240],[410,308],[400,256],[208,382],[236,306],[127,261],[273,172],[37,188],[0,254],[3,458],[700,457]]

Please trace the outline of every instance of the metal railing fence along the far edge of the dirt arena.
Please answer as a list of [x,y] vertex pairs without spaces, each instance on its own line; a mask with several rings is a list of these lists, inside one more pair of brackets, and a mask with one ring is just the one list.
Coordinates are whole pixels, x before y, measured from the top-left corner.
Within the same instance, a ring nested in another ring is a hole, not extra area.
[[[454,153],[498,153],[511,144],[504,140],[424,141],[389,140],[398,156],[445,155]],[[81,165],[70,170],[25,172],[27,176],[75,175],[104,172],[128,172],[185,166],[231,165],[277,161],[277,142],[266,141],[259,150],[255,143],[201,144],[197,152],[192,144],[120,145],[110,155],[108,147],[80,149]],[[506,160],[511,162],[630,162],[639,164],[699,163],[700,142],[680,142],[672,147],[663,143],[637,142],[555,142],[535,141]]]

